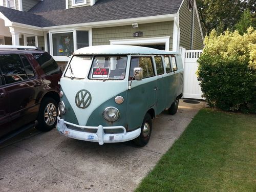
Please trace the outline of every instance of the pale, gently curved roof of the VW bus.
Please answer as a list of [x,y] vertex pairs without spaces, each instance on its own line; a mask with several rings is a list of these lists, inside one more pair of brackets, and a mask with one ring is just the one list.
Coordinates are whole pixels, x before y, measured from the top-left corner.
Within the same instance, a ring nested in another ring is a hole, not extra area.
[[84,47],[76,50],[73,55],[167,55],[177,52],[162,51],[153,48],[140,47],[140,46],[127,46],[127,45],[106,45],[106,46],[91,46]]

